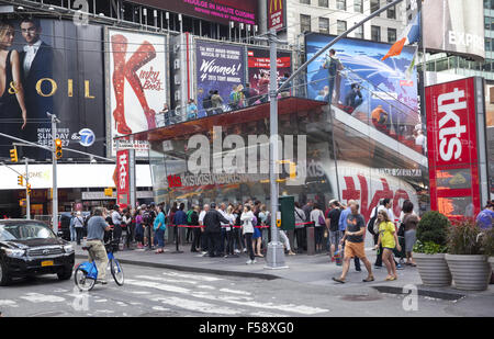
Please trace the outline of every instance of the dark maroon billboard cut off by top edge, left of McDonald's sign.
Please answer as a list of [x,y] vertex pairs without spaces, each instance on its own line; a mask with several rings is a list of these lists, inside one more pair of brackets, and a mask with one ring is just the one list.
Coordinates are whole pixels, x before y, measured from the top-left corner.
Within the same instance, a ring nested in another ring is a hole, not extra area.
[[231,21],[251,25],[257,24],[258,0],[132,0],[132,2],[226,25]]

